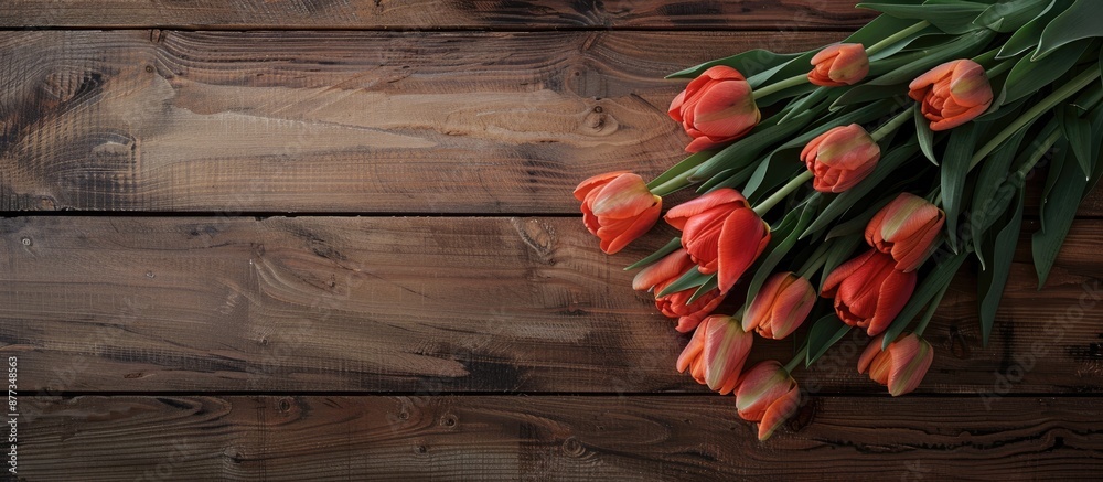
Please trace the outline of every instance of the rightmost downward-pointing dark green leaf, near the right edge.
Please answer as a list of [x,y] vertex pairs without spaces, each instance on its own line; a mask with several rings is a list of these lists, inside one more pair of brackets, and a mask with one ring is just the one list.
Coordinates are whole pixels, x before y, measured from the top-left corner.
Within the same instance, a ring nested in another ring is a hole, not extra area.
[[[1064,142],[1058,143],[1058,149],[1065,149]],[[1057,174],[1052,195],[1042,205],[1046,216],[1045,227],[1030,238],[1030,250],[1034,254],[1035,270],[1038,272],[1038,289],[1046,285],[1049,271],[1053,268],[1057,254],[1064,244],[1064,236],[1072,227],[1080,206],[1081,195],[1088,186],[1088,179],[1077,169],[1072,157],[1064,157],[1064,165]],[[1050,175],[1053,175],[1050,173]]]

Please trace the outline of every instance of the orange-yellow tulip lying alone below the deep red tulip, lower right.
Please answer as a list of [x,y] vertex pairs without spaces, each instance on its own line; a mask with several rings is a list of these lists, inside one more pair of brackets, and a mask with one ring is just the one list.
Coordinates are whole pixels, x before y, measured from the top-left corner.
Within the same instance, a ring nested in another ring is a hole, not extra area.
[[934,349],[922,336],[910,333],[881,350],[885,335],[869,342],[858,358],[858,373],[869,372],[869,378],[889,387],[893,397],[911,393],[923,381],[934,361]]

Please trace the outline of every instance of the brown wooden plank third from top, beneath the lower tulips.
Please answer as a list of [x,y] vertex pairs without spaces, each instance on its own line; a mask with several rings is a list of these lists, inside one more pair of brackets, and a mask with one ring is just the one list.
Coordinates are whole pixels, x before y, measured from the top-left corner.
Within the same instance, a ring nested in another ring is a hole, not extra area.
[[[963,276],[920,390],[1103,392],[1101,233],[1073,226],[1046,291],[1013,267],[986,349]],[[667,234],[608,257],[578,218],[6,218],[0,354],[32,392],[704,392],[674,369],[686,338],[620,269]],[[855,373],[865,344],[802,379],[882,393]]]

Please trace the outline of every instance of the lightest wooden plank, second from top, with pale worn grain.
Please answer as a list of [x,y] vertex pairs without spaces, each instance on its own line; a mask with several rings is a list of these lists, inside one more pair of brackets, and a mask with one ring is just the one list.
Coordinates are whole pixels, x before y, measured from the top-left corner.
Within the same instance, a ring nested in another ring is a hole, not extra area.
[[842,36],[0,32],[0,211],[578,213],[684,157],[663,75]]

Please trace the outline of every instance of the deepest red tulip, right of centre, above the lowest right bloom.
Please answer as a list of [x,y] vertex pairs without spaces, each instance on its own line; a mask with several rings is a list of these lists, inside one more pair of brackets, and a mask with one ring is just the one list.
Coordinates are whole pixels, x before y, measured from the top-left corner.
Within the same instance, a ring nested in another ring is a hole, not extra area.
[[915,290],[915,271],[895,269],[892,257],[870,249],[835,268],[824,281],[824,298],[835,299],[835,313],[850,326],[880,334]]

